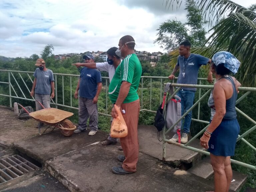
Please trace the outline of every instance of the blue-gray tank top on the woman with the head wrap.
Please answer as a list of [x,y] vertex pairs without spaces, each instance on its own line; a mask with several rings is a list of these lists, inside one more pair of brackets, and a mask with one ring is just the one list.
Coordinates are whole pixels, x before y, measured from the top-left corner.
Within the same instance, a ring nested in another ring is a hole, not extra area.
[[[231,96],[231,98],[226,100],[226,114],[223,117],[223,119],[233,120],[233,119],[236,119],[236,109],[235,109],[236,99],[237,99],[236,86],[231,76],[222,77],[222,78],[229,80],[233,87],[233,95]],[[211,120],[212,120],[216,112],[212,92],[208,100],[208,106],[211,108]]]

